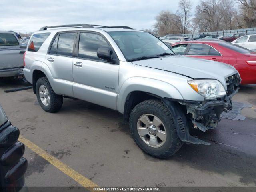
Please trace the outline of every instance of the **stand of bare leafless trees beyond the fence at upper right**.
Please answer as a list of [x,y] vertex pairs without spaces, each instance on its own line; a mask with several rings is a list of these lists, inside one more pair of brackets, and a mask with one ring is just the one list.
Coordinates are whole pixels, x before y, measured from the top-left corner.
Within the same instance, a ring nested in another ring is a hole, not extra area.
[[156,16],[153,32],[186,34],[251,28],[256,26],[256,0],[200,0],[191,18],[191,0],[180,0],[176,13],[165,10]]

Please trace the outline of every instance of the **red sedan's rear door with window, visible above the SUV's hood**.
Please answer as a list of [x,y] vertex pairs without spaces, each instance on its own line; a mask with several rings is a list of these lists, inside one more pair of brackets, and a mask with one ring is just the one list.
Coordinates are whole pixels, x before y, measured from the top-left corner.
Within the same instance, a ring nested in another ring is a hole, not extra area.
[[187,51],[187,56],[213,61],[221,61],[222,55],[212,46],[200,43],[191,43]]

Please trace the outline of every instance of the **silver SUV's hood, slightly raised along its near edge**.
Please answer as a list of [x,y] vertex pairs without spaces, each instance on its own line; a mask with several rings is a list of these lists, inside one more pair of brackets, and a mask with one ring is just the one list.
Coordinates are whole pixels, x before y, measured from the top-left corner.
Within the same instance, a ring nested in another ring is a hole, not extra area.
[[226,77],[237,73],[236,69],[228,64],[180,55],[133,61],[132,63],[174,72],[192,79],[217,79],[223,85],[226,85]]

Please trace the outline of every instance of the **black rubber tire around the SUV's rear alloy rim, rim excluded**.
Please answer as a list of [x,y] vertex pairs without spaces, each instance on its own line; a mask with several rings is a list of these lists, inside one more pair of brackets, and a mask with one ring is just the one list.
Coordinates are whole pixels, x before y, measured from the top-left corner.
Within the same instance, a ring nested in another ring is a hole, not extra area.
[[[44,105],[40,99],[39,87],[41,85],[46,86],[46,88],[48,89],[48,92],[50,95],[50,102],[49,102],[48,106]],[[50,85],[50,83],[46,77],[41,77],[37,80],[37,82],[36,82],[36,97],[37,97],[37,100],[38,100],[40,106],[46,112],[50,112],[50,113],[58,112],[63,104],[63,97],[61,95],[57,95],[56,93],[54,93],[54,91],[52,90],[52,86]]]

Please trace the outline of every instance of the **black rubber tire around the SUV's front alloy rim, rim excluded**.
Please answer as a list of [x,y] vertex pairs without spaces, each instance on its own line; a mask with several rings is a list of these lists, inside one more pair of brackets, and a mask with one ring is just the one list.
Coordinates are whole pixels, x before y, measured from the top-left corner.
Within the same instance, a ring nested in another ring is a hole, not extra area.
[[[166,128],[165,143],[154,148],[146,144],[140,137],[137,130],[137,122],[143,114],[153,114],[157,116]],[[177,135],[176,127],[173,122],[172,114],[166,105],[160,100],[150,99],[136,105],[130,114],[130,131],[136,144],[147,154],[156,158],[168,158],[176,153],[182,146],[183,142]]]

